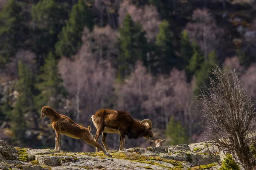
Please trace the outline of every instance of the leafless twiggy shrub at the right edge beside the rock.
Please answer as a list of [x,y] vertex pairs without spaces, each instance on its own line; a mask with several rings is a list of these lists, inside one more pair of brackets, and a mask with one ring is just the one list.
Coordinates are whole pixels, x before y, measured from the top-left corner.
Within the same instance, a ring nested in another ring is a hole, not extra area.
[[251,133],[255,127],[256,103],[242,88],[235,71],[232,81],[227,71],[218,66],[212,74],[210,86],[201,94],[205,133],[212,144],[235,153],[244,169],[253,170],[255,159],[249,146],[255,142]]

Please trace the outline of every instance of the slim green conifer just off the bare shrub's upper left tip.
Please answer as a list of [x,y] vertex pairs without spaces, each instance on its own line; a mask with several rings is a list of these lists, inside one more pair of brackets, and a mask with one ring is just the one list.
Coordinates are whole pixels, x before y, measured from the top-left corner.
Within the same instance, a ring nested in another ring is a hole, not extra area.
[[200,88],[209,85],[209,76],[211,75],[211,69],[216,67],[218,64],[218,58],[215,51],[211,51],[208,54],[207,61],[201,64],[201,69],[195,73],[197,88],[195,89],[195,94],[200,92]]

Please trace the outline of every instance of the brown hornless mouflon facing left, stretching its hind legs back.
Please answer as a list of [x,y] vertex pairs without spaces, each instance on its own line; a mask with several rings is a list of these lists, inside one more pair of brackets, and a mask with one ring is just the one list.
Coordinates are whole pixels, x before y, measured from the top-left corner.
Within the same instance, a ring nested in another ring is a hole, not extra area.
[[87,144],[90,144],[100,150],[102,150],[106,156],[111,156],[103,147],[101,144],[96,142],[93,139],[93,135],[90,133],[90,125],[88,126],[88,129],[76,124],[73,120],[71,120],[69,117],[57,113],[54,109],[52,109],[49,106],[44,106],[42,108],[41,112],[41,119],[44,119],[45,117],[49,117],[51,121],[52,128],[55,130],[56,138],[55,138],[55,149],[59,150],[61,149],[60,145],[60,135],[64,134],[67,136],[70,136],[74,139],[82,139]]

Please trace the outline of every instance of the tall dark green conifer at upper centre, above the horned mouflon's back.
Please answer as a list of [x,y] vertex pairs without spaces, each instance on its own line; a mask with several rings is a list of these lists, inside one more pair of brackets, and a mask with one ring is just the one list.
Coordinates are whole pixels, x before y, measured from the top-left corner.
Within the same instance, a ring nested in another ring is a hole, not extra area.
[[118,37],[119,55],[117,58],[119,79],[123,79],[131,72],[135,62],[139,59],[147,65],[147,40],[145,31],[140,23],[134,23],[130,14],[127,14],[123,27],[119,28]]

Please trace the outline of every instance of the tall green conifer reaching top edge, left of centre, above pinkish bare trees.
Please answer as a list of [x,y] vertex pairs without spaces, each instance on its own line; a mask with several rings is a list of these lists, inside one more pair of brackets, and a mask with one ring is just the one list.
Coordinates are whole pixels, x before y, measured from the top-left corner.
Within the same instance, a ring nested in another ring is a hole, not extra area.
[[93,29],[93,16],[90,9],[83,0],[78,0],[73,6],[66,26],[58,35],[59,41],[55,44],[56,54],[59,56],[71,57],[81,46],[81,36],[84,27]]

